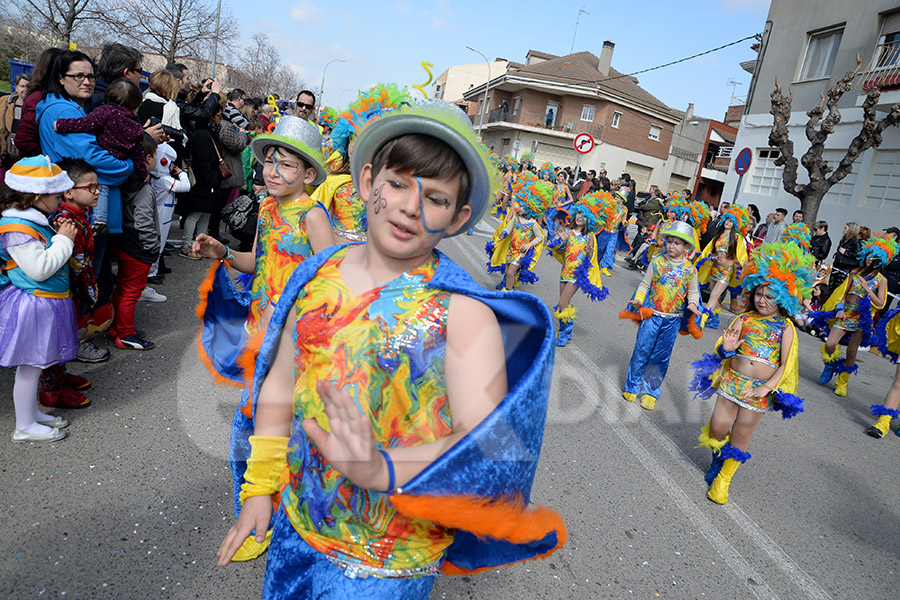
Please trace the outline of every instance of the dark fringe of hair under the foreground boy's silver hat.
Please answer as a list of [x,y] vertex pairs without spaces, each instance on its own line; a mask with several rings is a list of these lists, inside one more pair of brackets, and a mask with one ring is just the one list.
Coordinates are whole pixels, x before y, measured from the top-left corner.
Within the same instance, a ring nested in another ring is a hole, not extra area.
[[372,158],[372,179],[385,167],[401,173],[411,171],[416,177],[459,177],[454,217],[469,202],[469,171],[465,163],[453,148],[435,137],[411,133],[392,139]]

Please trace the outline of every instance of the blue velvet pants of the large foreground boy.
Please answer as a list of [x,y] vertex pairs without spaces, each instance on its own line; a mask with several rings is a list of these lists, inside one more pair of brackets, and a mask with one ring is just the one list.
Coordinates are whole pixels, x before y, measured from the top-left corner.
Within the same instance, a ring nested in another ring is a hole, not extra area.
[[266,558],[266,600],[427,600],[433,576],[412,579],[351,579],[324,554],[307,544],[279,507],[273,515],[272,542]]

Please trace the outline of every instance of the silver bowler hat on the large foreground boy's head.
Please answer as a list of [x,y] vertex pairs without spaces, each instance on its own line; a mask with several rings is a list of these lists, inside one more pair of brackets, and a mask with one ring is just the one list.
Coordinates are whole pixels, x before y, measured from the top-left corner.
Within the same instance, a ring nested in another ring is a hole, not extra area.
[[409,134],[430,135],[453,148],[469,173],[468,204],[472,214],[455,234],[473,227],[481,220],[491,195],[491,179],[487,154],[479,152],[478,138],[469,118],[456,105],[443,100],[429,100],[415,106],[404,106],[385,113],[367,124],[350,148],[350,173],[359,181],[362,168],[390,140]]

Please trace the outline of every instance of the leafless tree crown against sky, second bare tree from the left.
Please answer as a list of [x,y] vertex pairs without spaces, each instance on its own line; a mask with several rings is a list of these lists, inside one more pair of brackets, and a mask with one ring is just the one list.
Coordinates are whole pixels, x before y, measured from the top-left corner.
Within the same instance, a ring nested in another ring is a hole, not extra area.
[[[118,41],[158,52],[168,62],[173,62],[177,55],[205,56],[216,38],[216,4],[213,0],[97,1],[103,3],[100,19]],[[219,45],[230,48],[239,33],[237,21],[223,9],[217,38]]]

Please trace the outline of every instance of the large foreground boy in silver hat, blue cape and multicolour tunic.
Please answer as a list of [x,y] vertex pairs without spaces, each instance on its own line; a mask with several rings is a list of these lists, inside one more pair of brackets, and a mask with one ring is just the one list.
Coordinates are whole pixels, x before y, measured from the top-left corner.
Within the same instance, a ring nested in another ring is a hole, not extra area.
[[[564,540],[555,513],[518,498],[540,450],[550,314],[533,296],[485,291],[434,250],[485,210],[486,162],[465,115],[440,101],[360,134],[351,170],[368,240],[297,268],[255,367],[244,507],[218,558],[227,564],[253,529],[261,540],[274,518],[264,598],[424,599],[440,571]],[[505,364],[494,310],[524,327],[530,356]],[[501,447],[504,460],[488,460]]]

